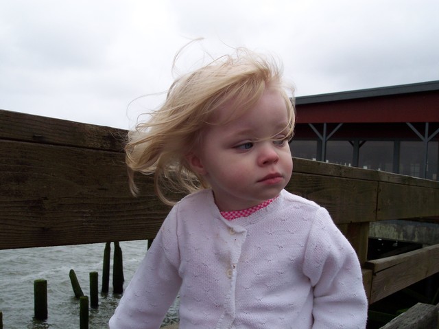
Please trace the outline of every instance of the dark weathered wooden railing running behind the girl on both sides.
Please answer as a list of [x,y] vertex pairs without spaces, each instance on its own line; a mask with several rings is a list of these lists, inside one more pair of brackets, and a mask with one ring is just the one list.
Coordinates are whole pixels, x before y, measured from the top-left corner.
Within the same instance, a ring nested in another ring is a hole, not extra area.
[[[0,249],[152,239],[169,212],[151,177],[129,190],[126,131],[0,110]],[[439,272],[439,245],[368,260],[369,223],[438,223],[439,182],[294,159],[287,190],[327,207],[363,266],[370,303]]]

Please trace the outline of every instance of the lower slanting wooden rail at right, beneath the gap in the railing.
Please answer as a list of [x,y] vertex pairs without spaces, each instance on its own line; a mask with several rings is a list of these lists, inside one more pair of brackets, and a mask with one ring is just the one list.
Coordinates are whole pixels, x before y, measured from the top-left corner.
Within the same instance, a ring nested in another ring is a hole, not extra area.
[[366,262],[365,267],[373,271],[370,303],[438,273],[438,260],[439,245],[434,245]]

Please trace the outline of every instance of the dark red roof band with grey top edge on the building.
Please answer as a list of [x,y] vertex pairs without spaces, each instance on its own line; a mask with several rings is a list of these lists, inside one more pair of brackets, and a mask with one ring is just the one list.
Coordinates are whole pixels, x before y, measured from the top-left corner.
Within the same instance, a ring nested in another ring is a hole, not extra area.
[[296,123],[439,122],[439,81],[296,98]]

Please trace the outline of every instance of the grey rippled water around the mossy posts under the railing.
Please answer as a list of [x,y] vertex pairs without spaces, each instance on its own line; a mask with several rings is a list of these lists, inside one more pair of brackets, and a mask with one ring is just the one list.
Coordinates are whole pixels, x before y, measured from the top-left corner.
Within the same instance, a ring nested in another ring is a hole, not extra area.
[[[147,241],[120,243],[126,287],[145,256]],[[5,329],[69,329],[80,327],[79,299],[75,298],[69,271],[75,270],[84,295],[89,293],[89,273],[99,273],[102,286],[102,257],[105,244],[0,250],[0,310]],[[114,245],[111,245],[112,252]],[[112,258],[112,257],[111,257]],[[48,319],[34,319],[34,280],[47,280]],[[112,293],[112,266],[108,294],[99,294],[99,308],[90,308],[89,328],[108,328],[108,319],[121,298]],[[174,304],[164,324],[177,319]]]

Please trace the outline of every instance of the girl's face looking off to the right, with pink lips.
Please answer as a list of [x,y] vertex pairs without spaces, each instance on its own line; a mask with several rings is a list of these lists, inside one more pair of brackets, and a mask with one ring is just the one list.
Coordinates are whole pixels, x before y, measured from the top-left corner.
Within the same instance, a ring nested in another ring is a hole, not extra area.
[[[228,109],[217,116],[228,117]],[[279,91],[265,89],[244,115],[204,131],[193,170],[211,184],[220,211],[246,209],[274,198],[292,174],[288,115]]]

